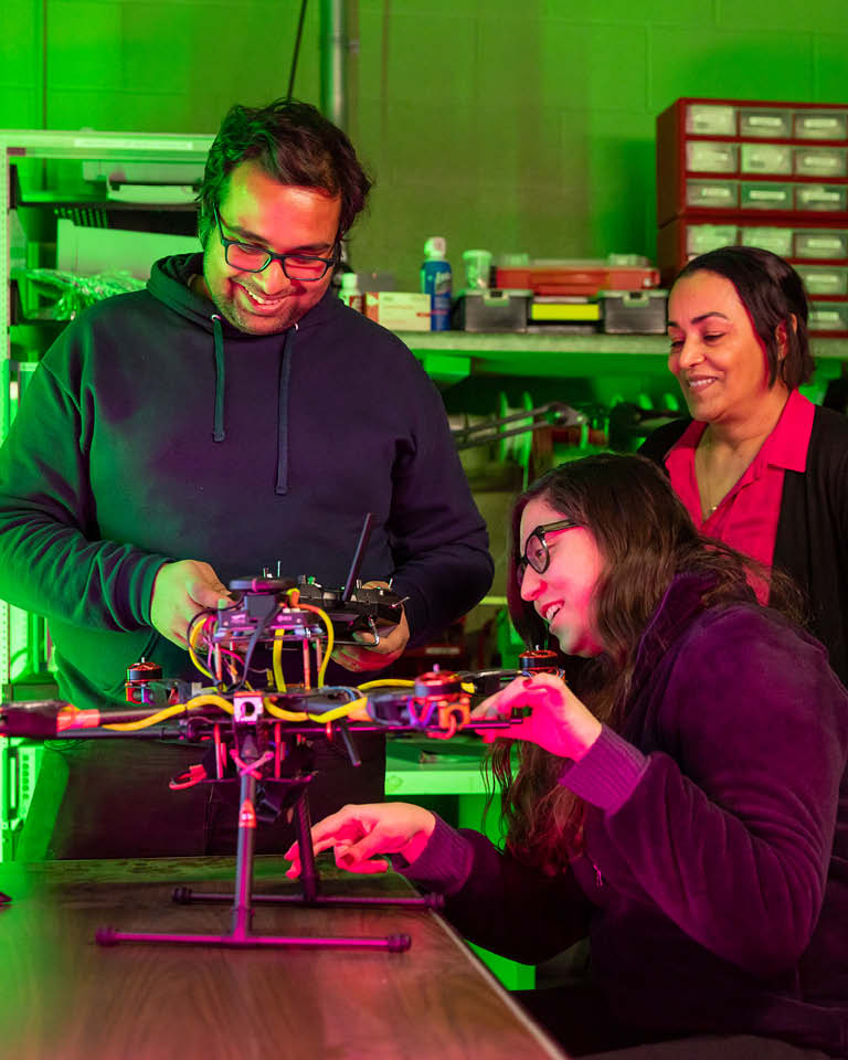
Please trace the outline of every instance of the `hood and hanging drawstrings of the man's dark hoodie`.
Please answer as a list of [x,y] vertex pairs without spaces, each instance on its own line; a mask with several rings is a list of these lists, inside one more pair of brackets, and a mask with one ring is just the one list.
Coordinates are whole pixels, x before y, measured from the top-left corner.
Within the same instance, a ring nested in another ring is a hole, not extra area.
[[147,289],[159,301],[181,317],[208,331],[211,337],[210,363],[215,373],[215,399],[212,409],[212,441],[226,441],[226,346],[232,342],[273,342],[279,346],[277,480],[275,491],[288,490],[288,403],[295,336],[300,328],[316,327],[331,319],[340,303],[329,288],[321,300],[292,327],[277,335],[248,335],[221,316],[214,303],[197,295],[190,287],[192,276],[203,273],[202,254],[176,254],[156,262]]

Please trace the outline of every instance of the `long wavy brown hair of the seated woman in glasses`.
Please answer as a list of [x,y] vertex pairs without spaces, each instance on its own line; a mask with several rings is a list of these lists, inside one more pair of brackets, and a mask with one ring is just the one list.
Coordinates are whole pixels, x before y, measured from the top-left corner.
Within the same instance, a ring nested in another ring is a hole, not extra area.
[[[595,586],[594,627],[603,654],[592,660],[563,657],[569,685],[598,720],[622,731],[640,638],[677,574],[703,576],[706,606],[754,601],[751,583],[767,585],[770,604],[798,621],[793,583],[728,545],[699,536],[664,473],[637,455],[598,454],[561,464],[534,483],[512,511],[507,601],[516,628],[529,645],[548,642],[539,615],[521,598],[518,574],[521,516],[544,498],[592,534],[604,561]],[[526,528],[532,529],[532,528]],[[507,842],[524,861],[555,870],[580,847],[584,804],[558,783],[562,760],[532,743],[492,746],[491,770],[501,786]]]

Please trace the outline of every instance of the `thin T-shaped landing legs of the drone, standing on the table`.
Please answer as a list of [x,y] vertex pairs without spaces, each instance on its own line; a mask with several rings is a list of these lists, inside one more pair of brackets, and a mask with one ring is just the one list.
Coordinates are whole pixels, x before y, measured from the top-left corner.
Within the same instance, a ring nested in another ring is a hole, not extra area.
[[255,935],[251,932],[253,904],[275,903],[306,907],[317,905],[413,905],[437,908],[441,904],[434,898],[349,898],[325,897],[318,893],[319,877],[315,865],[315,855],[310,839],[309,807],[306,789],[295,804],[295,826],[300,852],[303,894],[268,895],[253,893],[254,839],[256,834],[256,781],[261,774],[253,767],[258,759],[255,741],[246,736],[242,744],[241,791],[239,812],[239,845],[235,859],[235,894],[193,893],[191,888],[177,888],[173,900],[183,904],[200,902],[232,901],[231,931],[227,935],[166,934],[147,932],[123,932],[110,928],[98,929],[96,942],[102,946],[114,946],[121,942],[148,942],[190,946],[225,946],[230,948],[348,948],[348,950],[388,950],[401,953],[410,948],[411,939],[406,934],[384,937],[310,937],[287,935]]

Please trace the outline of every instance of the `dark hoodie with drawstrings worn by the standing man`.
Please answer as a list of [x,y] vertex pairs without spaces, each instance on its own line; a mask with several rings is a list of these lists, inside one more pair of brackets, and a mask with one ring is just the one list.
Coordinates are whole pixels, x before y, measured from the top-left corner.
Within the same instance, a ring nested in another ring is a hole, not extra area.
[[0,449],[0,595],[47,618],[80,707],[121,700],[142,655],[191,672],[149,625],[171,560],[224,584],[279,561],[338,587],[373,512],[360,576],[393,576],[413,643],[491,582],[441,396],[406,347],[330,292],[285,332],[246,335],[189,289],[200,272],[163,258],[147,290],[70,324]]

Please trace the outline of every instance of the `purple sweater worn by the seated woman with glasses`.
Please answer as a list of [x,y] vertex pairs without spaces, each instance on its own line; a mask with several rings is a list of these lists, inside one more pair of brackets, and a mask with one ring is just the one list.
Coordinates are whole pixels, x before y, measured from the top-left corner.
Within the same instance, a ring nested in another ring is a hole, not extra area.
[[589,804],[554,877],[438,825],[402,869],[471,941],[537,963],[589,934],[625,1026],[848,1054],[848,693],[774,612],[679,576],[643,636],[623,734],[561,783]]

